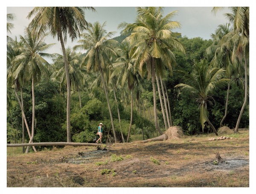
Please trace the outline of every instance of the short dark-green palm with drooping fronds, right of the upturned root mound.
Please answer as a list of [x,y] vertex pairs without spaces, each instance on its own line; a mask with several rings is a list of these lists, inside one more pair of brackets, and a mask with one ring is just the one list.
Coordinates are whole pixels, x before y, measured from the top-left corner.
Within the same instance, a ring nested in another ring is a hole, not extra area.
[[200,62],[195,62],[191,74],[182,70],[177,70],[177,72],[183,75],[185,84],[177,84],[175,87],[198,97],[196,101],[200,108],[200,122],[203,131],[204,123],[207,121],[215,134],[218,135],[215,127],[209,121],[207,104],[212,105],[210,100],[213,99],[212,94],[214,91],[225,87],[227,82],[230,81],[230,79],[223,78],[225,70],[223,68],[210,67],[206,60],[201,60]]

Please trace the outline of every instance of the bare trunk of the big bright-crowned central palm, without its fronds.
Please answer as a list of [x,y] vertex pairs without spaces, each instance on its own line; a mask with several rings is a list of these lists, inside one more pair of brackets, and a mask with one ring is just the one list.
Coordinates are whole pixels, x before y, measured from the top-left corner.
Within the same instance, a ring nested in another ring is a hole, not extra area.
[[156,130],[160,133],[160,135],[163,134],[163,132],[160,130],[158,123],[157,123],[157,97],[156,97],[156,87],[155,87],[155,74],[154,74],[154,58],[151,57],[151,81],[152,81],[152,87],[153,87],[153,101],[154,101],[154,123]]

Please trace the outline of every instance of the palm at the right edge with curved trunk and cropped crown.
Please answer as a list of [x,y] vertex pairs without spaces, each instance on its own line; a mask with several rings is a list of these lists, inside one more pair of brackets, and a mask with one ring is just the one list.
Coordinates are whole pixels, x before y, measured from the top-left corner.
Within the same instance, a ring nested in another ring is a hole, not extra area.
[[[215,7],[212,9],[216,13],[220,8]],[[249,7],[230,7],[231,13],[225,14],[228,20],[233,23],[233,31],[230,37],[234,43],[233,60],[238,58],[240,63],[244,63],[244,103],[241,107],[239,118],[236,122],[235,132],[238,132],[239,124],[241,121],[244,107],[247,104],[248,85],[247,85],[247,66],[249,59]]]

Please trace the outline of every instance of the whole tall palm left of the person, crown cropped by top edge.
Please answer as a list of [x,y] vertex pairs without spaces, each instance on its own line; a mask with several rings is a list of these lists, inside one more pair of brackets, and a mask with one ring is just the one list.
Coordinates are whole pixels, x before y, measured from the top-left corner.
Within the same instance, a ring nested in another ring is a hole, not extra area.
[[73,41],[80,36],[80,31],[87,26],[87,21],[84,19],[84,10],[90,9],[95,11],[93,7],[35,7],[28,14],[28,19],[33,15],[35,17],[29,24],[33,28],[39,28],[44,32],[49,30],[52,37],[57,36],[61,42],[61,49],[64,56],[64,66],[67,79],[67,142],[71,142],[70,137],[70,100],[71,88],[70,78],[68,73],[68,62],[64,42],[67,41],[67,36]]

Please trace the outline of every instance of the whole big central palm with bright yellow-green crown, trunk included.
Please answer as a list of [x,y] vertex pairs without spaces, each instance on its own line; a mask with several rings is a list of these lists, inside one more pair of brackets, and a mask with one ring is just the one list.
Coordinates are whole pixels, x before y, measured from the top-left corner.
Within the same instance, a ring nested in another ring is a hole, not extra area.
[[163,134],[163,132],[157,123],[156,60],[162,60],[166,66],[171,68],[174,59],[172,50],[178,48],[184,51],[183,46],[173,36],[175,33],[172,32],[173,29],[180,27],[179,22],[171,21],[175,14],[176,11],[173,11],[163,17],[163,8],[161,7],[138,7],[136,22],[132,24],[123,22],[119,25],[119,28],[124,28],[124,33],[131,33],[127,39],[134,46],[132,57],[136,60],[135,66],[139,67],[141,75],[147,70],[148,78],[151,78],[154,95],[154,122],[160,134]]

